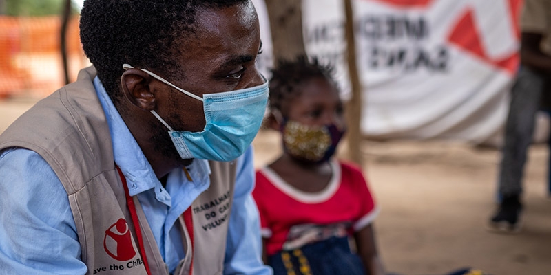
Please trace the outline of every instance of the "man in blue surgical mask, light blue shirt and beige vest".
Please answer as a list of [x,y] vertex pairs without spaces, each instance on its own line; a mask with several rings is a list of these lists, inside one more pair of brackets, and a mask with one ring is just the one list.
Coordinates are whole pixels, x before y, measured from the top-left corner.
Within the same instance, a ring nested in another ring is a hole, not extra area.
[[0,135],[1,273],[271,274],[252,3],[87,0],[81,41],[94,67]]

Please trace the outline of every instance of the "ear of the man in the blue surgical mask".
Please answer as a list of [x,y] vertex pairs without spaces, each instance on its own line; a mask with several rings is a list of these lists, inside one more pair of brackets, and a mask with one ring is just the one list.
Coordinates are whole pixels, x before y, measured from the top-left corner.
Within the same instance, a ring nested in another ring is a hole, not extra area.
[[155,94],[149,86],[152,78],[140,69],[127,69],[121,76],[121,89],[125,97],[136,107],[151,111],[155,109]]

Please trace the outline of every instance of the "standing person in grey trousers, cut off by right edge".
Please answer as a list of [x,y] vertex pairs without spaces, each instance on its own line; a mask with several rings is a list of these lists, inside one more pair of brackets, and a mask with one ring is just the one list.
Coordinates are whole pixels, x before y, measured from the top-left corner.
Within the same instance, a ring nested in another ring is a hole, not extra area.
[[550,109],[551,1],[525,0],[521,15],[521,68],[512,87],[505,146],[499,167],[497,212],[490,229],[518,232],[521,228],[521,193],[526,152],[540,107]]

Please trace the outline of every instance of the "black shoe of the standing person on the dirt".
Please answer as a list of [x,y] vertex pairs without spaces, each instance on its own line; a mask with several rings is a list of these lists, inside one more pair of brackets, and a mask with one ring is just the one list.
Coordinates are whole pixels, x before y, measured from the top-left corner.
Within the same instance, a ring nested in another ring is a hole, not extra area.
[[521,230],[522,203],[519,196],[503,197],[496,214],[490,218],[488,229],[495,232],[516,233]]

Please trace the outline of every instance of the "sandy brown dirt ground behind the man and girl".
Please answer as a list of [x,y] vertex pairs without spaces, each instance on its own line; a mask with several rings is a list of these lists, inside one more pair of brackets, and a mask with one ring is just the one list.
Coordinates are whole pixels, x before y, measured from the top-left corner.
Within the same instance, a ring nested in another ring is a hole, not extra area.
[[[0,101],[0,133],[33,100]],[[279,153],[278,136],[261,131],[254,146],[260,167]],[[476,267],[495,275],[551,274],[548,147],[530,148],[523,230],[486,230],[495,209],[499,151],[430,141],[364,141],[364,172],[377,203],[380,254],[389,272],[444,274]]]

